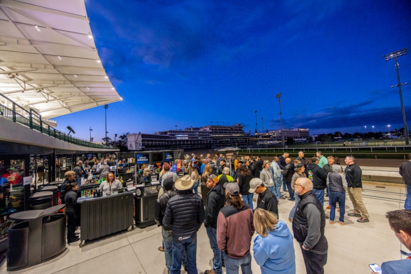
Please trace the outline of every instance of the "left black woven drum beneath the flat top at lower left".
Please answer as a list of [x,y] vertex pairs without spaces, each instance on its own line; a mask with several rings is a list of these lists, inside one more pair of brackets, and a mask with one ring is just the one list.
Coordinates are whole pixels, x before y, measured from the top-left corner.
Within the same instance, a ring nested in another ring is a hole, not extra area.
[[9,228],[7,269],[13,270],[28,265],[29,222],[24,221]]

